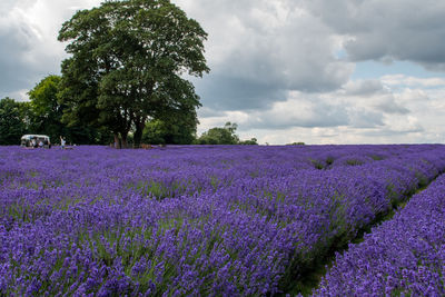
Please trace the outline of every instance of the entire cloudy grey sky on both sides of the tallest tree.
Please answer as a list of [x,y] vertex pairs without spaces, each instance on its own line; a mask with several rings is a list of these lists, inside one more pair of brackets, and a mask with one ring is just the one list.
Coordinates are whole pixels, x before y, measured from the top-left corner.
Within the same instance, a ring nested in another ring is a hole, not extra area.
[[[1,0],[0,98],[66,58],[57,34],[100,0]],[[445,142],[445,1],[174,0],[208,32],[198,132],[260,143]]]

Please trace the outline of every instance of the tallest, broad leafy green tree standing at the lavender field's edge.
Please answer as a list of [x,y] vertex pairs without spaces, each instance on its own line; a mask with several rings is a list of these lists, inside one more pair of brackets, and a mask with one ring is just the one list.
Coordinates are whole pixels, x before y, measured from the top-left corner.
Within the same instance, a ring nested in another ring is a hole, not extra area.
[[138,146],[149,119],[200,105],[184,75],[209,71],[206,38],[168,0],[107,1],[78,11],[59,32],[71,55],[61,69],[61,99],[70,106],[63,120],[106,126],[123,146],[135,129]]

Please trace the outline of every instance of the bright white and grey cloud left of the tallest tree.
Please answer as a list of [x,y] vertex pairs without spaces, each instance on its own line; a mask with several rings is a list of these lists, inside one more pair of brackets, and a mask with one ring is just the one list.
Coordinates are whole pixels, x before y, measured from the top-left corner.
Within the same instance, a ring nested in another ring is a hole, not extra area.
[[93,2],[98,1],[0,1],[0,98],[26,92],[44,76],[59,73],[66,57],[57,41],[61,23],[75,12],[72,4]]

